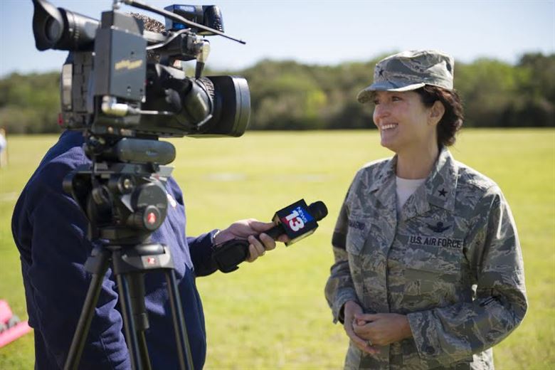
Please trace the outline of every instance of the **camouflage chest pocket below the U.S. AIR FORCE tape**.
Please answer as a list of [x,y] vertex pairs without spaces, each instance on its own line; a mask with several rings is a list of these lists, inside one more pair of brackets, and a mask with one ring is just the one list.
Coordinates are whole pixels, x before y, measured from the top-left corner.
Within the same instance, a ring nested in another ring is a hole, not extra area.
[[462,249],[408,245],[403,302],[412,310],[425,310],[456,298]]

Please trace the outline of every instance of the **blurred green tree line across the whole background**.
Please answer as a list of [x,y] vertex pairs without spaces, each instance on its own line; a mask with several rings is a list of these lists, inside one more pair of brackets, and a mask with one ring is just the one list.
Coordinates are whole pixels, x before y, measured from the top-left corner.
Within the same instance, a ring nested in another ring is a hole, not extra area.
[[[367,62],[334,66],[262,60],[244,70],[250,129],[361,129],[372,109],[356,94],[372,80]],[[211,71],[213,72],[213,71]],[[0,80],[0,127],[13,133],[59,132],[60,75],[13,73]],[[466,127],[555,127],[555,54],[524,54],[515,65],[495,59],[455,64],[455,89]]]

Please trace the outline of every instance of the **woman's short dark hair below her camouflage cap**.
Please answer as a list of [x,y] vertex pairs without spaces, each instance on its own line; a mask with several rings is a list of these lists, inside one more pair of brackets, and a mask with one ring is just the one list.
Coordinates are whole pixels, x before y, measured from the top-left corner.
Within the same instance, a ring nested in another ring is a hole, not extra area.
[[462,127],[462,121],[464,120],[462,102],[458,93],[455,90],[447,90],[432,85],[425,85],[414,90],[414,92],[421,96],[426,107],[431,107],[438,100],[443,103],[445,113],[437,127],[438,146],[449,147],[455,144],[455,134]]

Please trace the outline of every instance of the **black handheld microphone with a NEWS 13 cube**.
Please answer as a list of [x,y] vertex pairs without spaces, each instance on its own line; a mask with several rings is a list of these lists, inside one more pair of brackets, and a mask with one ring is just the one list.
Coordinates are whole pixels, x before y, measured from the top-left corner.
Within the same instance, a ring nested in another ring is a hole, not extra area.
[[[317,221],[322,220],[325,216],[327,216],[327,207],[324,202],[316,201],[307,206],[305,200],[300,199],[300,201],[277,211],[273,218],[276,225],[264,233],[274,240],[280,235],[286,234],[289,241],[285,245],[288,246],[314,233],[318,227]],[[249,256],[248,245],[248,240],[244,239],[232,239],[220,245],[213,245],[213,265],[223,273],[237,270],[237,265]]]

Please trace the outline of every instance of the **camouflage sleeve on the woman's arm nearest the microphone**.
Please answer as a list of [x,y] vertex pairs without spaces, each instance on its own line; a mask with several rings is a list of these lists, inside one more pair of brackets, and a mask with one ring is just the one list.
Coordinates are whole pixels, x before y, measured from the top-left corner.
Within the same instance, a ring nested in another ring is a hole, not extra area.
[[349,300],[358,302],[347,258],[346,240],[348,227],[347,204],[343,203],[332,237],[335,263],[332,265],[331,274],[325,287],[326,300],[332,309],[334,323],[337,321],[343,322],[343,305],[345,302]]

